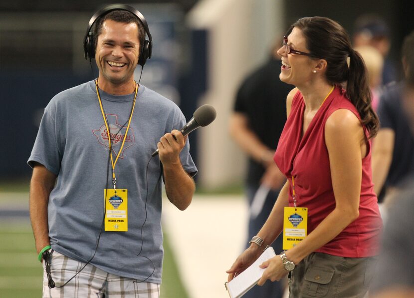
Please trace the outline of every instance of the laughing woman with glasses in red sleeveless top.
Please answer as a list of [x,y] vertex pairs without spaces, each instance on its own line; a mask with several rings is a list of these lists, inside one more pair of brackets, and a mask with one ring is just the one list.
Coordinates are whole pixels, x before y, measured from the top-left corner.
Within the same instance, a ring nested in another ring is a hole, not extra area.
[[345,29],[326,17],[296,21],[278,53],[280,79],[296,86],[274,156],[287,182],[250,247],[227,271],[228,280],[278,237],[285,207],[294,206],[307,208],[307,236],[264,262],[258,285],[289,274],[291,298],[363,298],[382,229],[370,144],[379,121],[364,62]]

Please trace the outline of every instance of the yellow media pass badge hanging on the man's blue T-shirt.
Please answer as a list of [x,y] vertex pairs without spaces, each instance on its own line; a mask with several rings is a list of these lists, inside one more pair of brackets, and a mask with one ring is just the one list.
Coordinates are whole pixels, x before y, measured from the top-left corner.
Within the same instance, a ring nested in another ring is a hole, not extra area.
[[104,190],[105,198],[105,231],[128,231],[128,190]]

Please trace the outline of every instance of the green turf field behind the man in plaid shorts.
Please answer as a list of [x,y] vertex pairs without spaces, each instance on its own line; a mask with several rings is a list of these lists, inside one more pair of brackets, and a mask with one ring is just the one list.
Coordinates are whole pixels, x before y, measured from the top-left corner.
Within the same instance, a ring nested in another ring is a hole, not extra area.
[[[15,189],[15,188],[13,188]],[[0,208],[10,204],[25,206],[28,195],[0,192]],[[164,268],[161,298],[188,298],[168,243],[164,235]],[[29,219],[0,216],[0,297],[39,298],[42,296],[42,267],[37,261]]]

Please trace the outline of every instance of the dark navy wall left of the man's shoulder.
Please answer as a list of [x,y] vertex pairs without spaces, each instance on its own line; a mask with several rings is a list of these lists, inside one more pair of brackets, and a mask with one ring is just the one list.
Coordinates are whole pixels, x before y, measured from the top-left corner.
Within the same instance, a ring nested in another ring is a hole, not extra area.
[[36,113],[58,92],[92,79],[65,71],[3,71],[0,74],[0,178],[31,174],[26,165],[37,134]]

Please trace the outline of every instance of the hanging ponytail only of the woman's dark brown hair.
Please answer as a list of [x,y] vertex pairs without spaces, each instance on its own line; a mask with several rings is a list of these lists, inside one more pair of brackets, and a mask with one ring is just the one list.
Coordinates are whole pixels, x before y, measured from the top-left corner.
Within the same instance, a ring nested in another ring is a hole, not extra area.
[[361,121],[368,129],[370,138],[375,137],[380,128],[380,121],[372,108],[371,90],[368,84],[367,68],[361,55],[351,48],[347,96],[357,108]]

